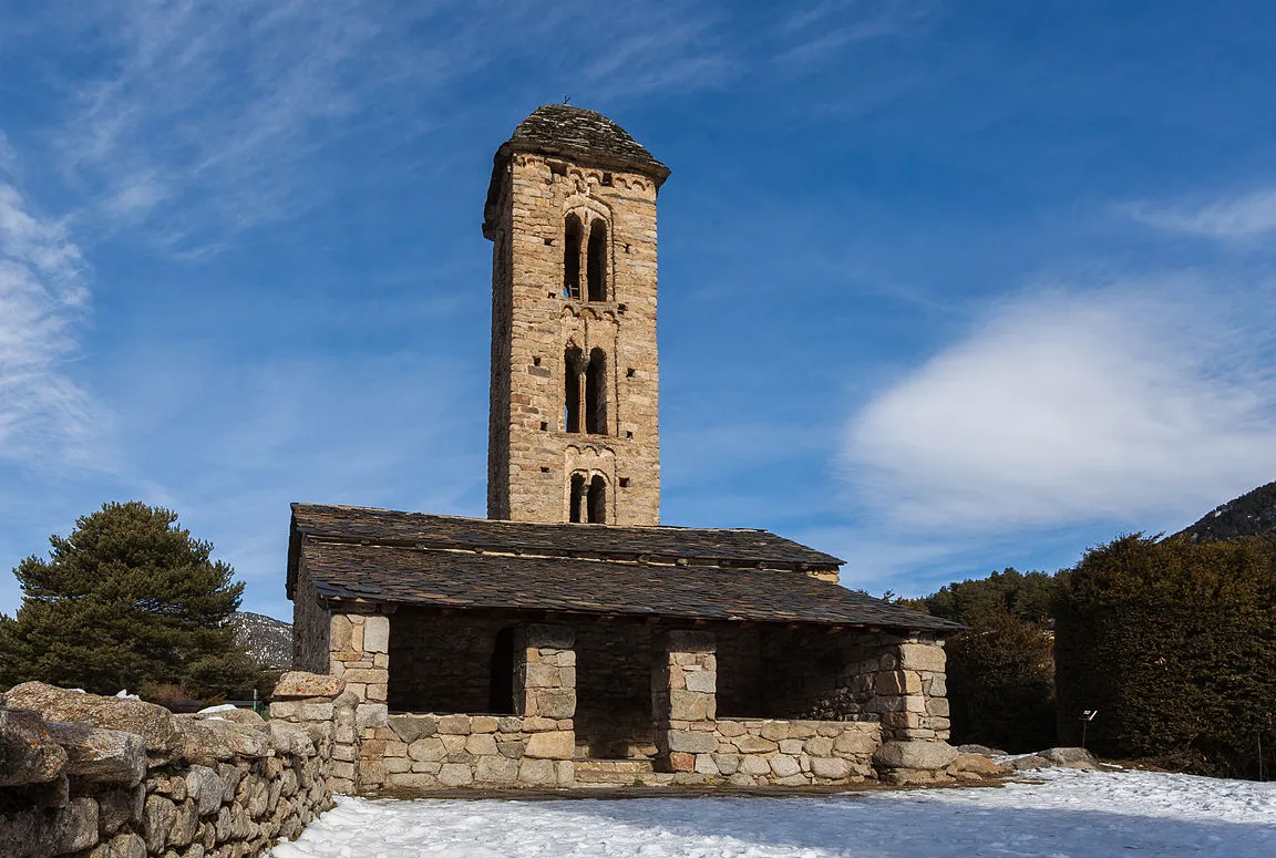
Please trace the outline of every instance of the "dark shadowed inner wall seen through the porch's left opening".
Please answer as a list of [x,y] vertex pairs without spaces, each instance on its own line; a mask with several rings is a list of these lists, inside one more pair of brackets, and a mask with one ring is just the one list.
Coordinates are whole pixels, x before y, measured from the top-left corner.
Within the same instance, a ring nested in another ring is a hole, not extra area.
[[[508,620],[399,611],[390,623],[392,711],[514,714],[513,694],[493,706],[493,654]],[[510,665],[512,667],[512,665]]]

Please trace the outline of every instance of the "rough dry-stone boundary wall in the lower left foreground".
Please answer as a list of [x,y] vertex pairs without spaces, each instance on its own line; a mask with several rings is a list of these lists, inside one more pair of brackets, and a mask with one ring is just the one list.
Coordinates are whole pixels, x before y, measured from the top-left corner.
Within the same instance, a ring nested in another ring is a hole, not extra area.
[[262,854],[332,807],[330,742],[311,727],[17,686],[0,706],[0,854]]

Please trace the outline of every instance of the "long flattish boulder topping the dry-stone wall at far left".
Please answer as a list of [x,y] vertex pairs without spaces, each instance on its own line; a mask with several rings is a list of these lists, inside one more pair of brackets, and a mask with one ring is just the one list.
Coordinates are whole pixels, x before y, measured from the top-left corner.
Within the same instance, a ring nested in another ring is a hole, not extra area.
[[152,757],[172,759],[181,747],[172,713],[140,700],[100,697],[43,682],[23,682],[9,690],[5,702],[11,708],[34,709],[50,722],[82,722],[102,729],[137,733],[147,743],[147,753]]

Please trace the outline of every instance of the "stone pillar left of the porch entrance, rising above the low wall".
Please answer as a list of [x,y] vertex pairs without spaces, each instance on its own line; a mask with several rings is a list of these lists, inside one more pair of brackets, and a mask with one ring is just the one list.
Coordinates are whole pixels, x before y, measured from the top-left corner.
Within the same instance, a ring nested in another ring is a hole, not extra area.
[[[514,711],[524,718],[575,716],[575,632],[527,623],[514,631]],[[569,728],[570,729],[570,728]]]

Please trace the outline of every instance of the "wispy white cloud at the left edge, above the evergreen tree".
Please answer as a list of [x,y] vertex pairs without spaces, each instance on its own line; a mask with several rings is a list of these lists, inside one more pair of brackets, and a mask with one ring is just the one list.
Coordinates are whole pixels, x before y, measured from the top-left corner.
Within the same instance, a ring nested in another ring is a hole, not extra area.
[[84,458],[100,416],[66,365],[87,305],[79,247],[0,181],[0,460]]

